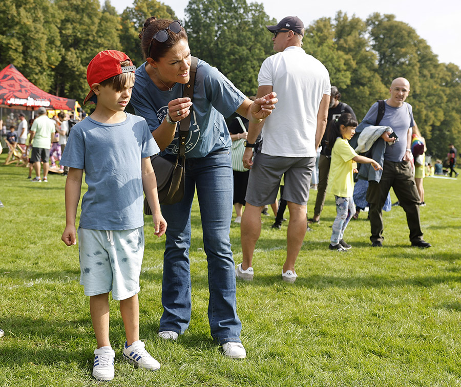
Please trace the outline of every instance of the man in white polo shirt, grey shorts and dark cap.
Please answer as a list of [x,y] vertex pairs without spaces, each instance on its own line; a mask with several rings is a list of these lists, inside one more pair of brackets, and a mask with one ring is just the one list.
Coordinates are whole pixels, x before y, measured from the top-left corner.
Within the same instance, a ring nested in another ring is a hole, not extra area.
[[[261,233],[261,208],[274,203],[284,175],[283,199],[290,220],[287,230],[287,256],[282,279],[294,283],[295,262],[307,229],[306,204],[310,178],[316,163],[316,149],[327,123],[330,79],[322,63],[301,48],[304,24],[296,16],[283,18],[274,33],[274,51],[266,58],[258,75],[258,98],[277,93],[277,109],[258,124],[250,124],[243,164],[251,168],[246,206],[241,223],[243,262],[238,278],[251,280],[253,252]],[[253,158],[253,147],[262,129],[262,146]]]

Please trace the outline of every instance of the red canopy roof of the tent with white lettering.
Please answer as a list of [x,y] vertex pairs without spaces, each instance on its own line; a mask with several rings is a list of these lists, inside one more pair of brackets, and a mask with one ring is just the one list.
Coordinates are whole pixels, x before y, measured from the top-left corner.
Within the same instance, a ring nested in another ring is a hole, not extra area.
[[57,97],[37,88],[13,65],[0,71],[0,107],[20,110],[74,110],[75,99]]

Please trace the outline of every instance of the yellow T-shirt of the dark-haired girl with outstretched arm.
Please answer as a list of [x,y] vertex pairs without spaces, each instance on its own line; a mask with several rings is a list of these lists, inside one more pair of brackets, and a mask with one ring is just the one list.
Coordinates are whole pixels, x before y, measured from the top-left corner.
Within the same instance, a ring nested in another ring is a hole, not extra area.
[[330,177],[328,179],[327,192],[342,198],[350,198],[354,193],[353,168],[358,156],[349,142],[338,137],[331,150]]

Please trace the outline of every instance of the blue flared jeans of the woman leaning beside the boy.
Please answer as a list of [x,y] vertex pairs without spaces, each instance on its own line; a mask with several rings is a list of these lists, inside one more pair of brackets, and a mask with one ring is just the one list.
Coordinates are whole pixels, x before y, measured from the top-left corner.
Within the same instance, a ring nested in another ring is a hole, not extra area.
[[168,223],[163,254],[162,305],[159,331],[184,333],[191,320],[191,206],[195,189],[200,205],[203,246],[208,263],[208,320],[220,344],[240,342],[241,322],[236,310],[235,264],[231,228],[233,175],[228,149],[186,160],[182,201],[162,205]]

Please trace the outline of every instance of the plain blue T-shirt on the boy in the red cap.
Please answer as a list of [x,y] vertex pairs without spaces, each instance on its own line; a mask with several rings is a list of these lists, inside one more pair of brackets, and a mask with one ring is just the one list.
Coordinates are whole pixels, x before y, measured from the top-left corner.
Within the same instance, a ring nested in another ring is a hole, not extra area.
[[141,159],[159,152],[142,117],[104,124],[90,117],[72,127],[61,165],[85,169],[88,191],[80,227],[130,230],[144,224]]

